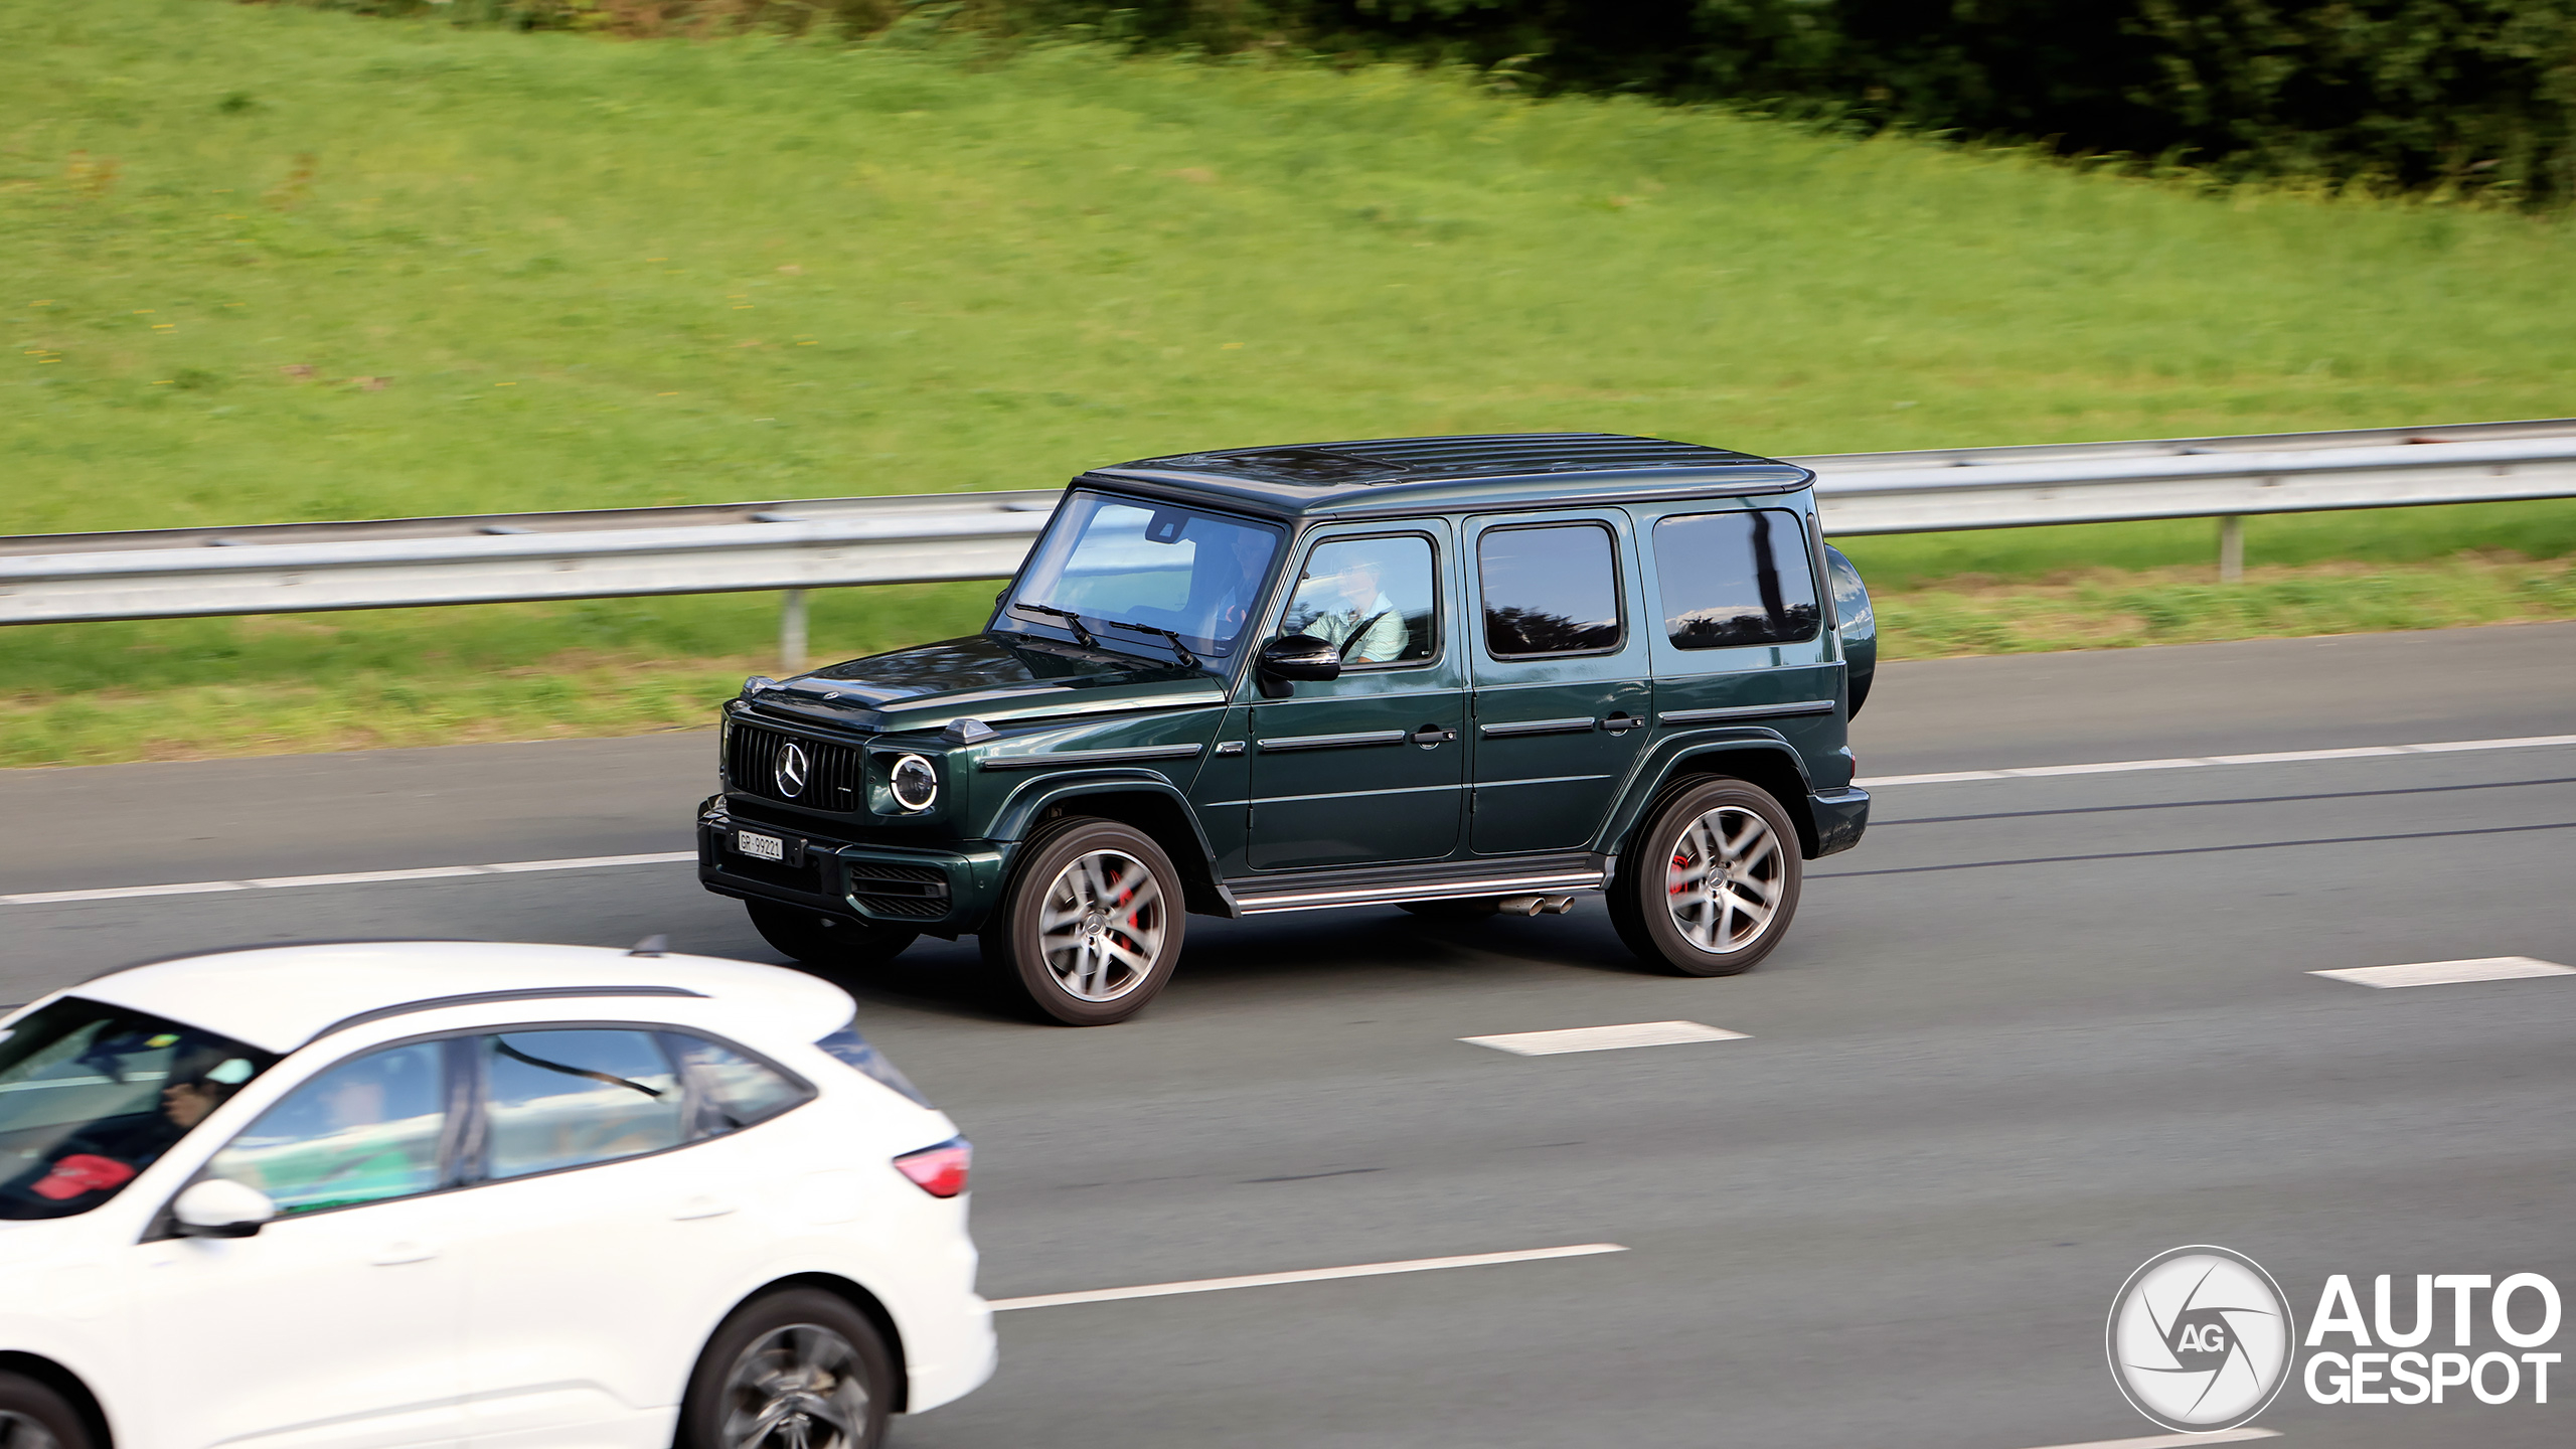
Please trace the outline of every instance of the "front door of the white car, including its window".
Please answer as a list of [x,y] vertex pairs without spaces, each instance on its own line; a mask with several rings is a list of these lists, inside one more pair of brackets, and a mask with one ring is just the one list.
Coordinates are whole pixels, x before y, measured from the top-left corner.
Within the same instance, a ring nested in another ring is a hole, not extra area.
[[464,1441],[464,1279],[446,1042],[361,1052],[286,1093],[201,1176],[260,1189],[250,1238],[131,1248],[139,1436],[173,1449]]

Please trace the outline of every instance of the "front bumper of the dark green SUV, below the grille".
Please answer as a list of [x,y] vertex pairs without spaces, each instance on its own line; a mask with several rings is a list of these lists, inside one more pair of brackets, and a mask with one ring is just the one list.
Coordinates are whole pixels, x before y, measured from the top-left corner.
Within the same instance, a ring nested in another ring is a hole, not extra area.
[[[783,841],[778,861],[734,848],[737,830]],[[724,797],[698,807],[698,884],[739,900],[963,936],[1002,884],[1002,851],[925,851],[835,841],[796,825],[734,820]]]

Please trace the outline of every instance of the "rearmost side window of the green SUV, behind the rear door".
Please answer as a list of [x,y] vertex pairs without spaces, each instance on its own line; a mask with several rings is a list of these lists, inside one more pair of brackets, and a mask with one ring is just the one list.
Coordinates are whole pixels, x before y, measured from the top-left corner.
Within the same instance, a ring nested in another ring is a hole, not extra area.
[[1677,650],[1795,645],[1819,627],[1806,529],[1783,508],[1690,513],[1654,526],[1664,637]]

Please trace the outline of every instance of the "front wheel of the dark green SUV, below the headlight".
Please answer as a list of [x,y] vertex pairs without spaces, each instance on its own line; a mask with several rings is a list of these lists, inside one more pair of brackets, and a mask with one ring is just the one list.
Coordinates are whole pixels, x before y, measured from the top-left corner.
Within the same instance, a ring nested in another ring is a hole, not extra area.
[[1180,964],[1172,856],[1144,830],[1074,817],[1023,846],[984,926],[984,962],[1041,1016],[1108,1026],[1144,1011]]

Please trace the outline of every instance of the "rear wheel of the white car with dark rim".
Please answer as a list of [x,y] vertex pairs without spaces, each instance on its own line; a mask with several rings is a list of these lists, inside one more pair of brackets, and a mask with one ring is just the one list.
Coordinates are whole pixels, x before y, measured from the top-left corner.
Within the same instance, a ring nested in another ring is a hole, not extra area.
[[878,1449],[891,1408],[894,1359],[876,1325],[837,1294],[786,1289],[737,1307],[706,1341],[677,1449]]

